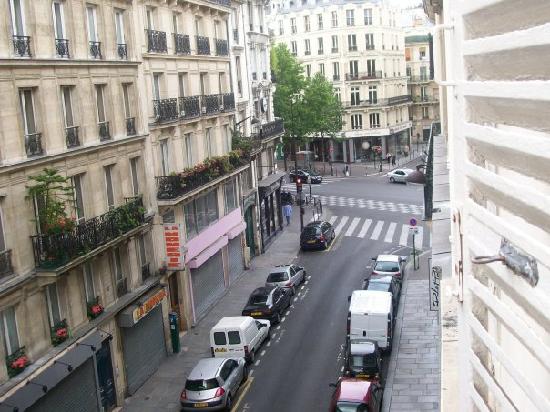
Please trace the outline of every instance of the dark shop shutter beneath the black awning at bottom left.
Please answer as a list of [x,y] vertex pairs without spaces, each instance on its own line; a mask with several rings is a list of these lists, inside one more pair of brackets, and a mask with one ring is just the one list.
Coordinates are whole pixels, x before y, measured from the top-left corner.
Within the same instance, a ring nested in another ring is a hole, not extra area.
[[97,386],[93,358],[76,368],[59,382],[28,412],[97,412]]

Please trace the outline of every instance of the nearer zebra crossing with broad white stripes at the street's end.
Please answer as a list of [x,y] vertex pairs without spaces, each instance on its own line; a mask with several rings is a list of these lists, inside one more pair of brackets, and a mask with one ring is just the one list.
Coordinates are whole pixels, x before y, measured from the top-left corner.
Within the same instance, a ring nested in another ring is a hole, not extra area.
[[[366,238],[400,246],[413,246],[408,224],[334,215],[330,217],[329,223],[334,227],[336,236],[343,234],[344,237]],[[414,243],[417,249],[429,247],[429,234],[424,237],[422,226],[418,227],[418,235],[415,236]]]

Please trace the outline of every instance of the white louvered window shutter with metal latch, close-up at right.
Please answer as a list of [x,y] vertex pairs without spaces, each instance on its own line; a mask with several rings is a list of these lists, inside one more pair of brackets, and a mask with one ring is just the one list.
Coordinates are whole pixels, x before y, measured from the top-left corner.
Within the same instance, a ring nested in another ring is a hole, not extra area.
[[434,240],[450,239],[440,266],[442,404],[547,411],[550,76],[542,33],[550,7],[423,4],[435,23],[441,96],[434,148],[446,147],[448,168],[438,182],[434,166],[434,200],[438,189],[450,195],[440,202],[448,225],[433,227]]

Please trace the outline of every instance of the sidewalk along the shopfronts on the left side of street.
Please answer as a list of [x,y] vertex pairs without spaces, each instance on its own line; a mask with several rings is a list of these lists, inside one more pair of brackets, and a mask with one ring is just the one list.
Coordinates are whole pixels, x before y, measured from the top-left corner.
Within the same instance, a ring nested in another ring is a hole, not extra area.
[[[306,216],[310,217],[310,214]],[[134,394],[126,398],[123,410],[139,412],[179,411],[179,395],[185,377],[197,361],[210,357],[209,332],[224,316],[240,316],[250,293],[263,286],[266,271],[275,265],[292,262],[298,253],[300,212],[293,208],[290,226],[285,226],[267,253],[255,257],[251,267],[228,288],[197,326],[181,339],[181,352],[172,354],[159,365],[157,372]]]

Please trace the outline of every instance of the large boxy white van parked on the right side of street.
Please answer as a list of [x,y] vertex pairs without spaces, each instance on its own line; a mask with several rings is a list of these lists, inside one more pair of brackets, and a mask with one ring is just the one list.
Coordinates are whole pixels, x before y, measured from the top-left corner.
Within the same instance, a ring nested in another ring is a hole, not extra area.
[[348,336],[351,341],[369,339],[391,351],[393,308],[390,292],[355,290],[350,297]]

